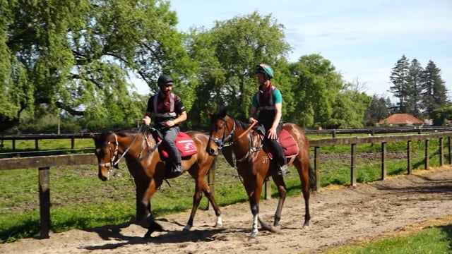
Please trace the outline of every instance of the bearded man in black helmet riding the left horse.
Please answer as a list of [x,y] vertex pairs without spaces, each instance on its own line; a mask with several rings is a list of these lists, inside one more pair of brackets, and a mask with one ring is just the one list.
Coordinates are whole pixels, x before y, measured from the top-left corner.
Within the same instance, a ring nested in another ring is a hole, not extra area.
[[143,123],[149,125],[150,117],[153,116],[155,128],[162,133],[162,143],[168,149],[167,170],[172,178],[182,174],[182,159],[175,140],[179,134],[179,124],[186,120],[186,111],[182,99],[172,93],[173,80],[169,75],[160,75],[157,85],[160,92],[149,98]]

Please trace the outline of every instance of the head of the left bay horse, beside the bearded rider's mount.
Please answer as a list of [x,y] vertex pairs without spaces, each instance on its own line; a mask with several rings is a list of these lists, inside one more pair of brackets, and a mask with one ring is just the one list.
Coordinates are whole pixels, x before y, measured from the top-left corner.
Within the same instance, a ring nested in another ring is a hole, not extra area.
[[95,144],[95,155],[99,165],[99,179],[107,181],[109,173],[118,159],[118,138],[113,132],[102,132],[99,135],[91,134]]

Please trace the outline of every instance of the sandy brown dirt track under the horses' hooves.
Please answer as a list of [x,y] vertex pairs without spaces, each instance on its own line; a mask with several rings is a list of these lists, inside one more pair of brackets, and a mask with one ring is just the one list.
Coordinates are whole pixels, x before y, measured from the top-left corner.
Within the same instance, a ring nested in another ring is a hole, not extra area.
[[[142,238],[146,230],[141,226],[124,224],[50,234],[49,239],[27,238],[0,245],[0,253],[314,253],[412,224],[434,224],[440,218],[451,224],[452,167],[356,188],[322,189],[311,196],[309,229],[302,229],[303,202],[302,195],[287,198],[280,233],[260,231],[254,241],[248,241],[249,205],[242,203],[222,207],[220,229],[213,227],[212,210],[198,210],[189,232],[182,231],[189,217],[184,212],[159,219],[166,231],[153,233],[150,240]],[[276,204],[275,199],[261,201],[261,216],[267,222],[273,221]]]

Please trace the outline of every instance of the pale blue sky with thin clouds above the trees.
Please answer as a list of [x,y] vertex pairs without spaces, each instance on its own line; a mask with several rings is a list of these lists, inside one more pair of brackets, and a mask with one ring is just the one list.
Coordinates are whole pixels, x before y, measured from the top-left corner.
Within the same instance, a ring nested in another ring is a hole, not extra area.
[[181,32],[254,11],[270,14],[285,26],[290,62],[320,54],[367,95],[392,97],[389,76],[403,55],[422,67],[432,60],[452,99],[451,0],[172,0],[170,6]]

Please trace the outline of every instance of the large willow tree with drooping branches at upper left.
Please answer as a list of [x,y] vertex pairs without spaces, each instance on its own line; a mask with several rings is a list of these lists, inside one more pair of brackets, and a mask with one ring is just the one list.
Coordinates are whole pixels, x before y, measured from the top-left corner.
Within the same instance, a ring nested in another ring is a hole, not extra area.
[[145,107],[133,78],[155,91],[160,73],[189,73],[167,1],[11,0],[0,10],[2,123],[23,110],[131,121]]

